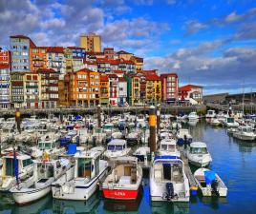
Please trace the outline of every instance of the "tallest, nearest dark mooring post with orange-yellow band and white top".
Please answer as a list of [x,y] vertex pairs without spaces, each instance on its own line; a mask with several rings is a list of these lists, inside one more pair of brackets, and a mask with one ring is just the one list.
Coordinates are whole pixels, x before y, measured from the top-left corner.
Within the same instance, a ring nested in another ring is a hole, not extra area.
[[155,107],[151,106],[149,108],[149,147],[150,153],[156,151],[156,125],[157,125],[157,118],[155,113]]

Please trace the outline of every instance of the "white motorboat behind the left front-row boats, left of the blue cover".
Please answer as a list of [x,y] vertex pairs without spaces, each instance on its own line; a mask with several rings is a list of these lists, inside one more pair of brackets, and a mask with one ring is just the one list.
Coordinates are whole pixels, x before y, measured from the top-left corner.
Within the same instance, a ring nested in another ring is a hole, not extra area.
[[43,152],[47,152],[51,154],[51,156],[63,154],[65,152],[65,148],[57,146],[56,143],[59,137],[60,135],[53,132],[43,135],[38,141],[38,146],[32,147],[32,157],[35,159],[41,158]]

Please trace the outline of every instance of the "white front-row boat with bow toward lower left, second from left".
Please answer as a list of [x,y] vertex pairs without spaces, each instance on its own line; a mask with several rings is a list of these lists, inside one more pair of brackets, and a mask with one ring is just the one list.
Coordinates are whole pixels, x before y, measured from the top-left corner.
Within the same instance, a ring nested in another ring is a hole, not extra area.
[[72,163],[67,159],[34,161],[32,177],[13,186],[12,197],[17,204],[32,203],[49,194],[54,181],[63,182],[73,173]]

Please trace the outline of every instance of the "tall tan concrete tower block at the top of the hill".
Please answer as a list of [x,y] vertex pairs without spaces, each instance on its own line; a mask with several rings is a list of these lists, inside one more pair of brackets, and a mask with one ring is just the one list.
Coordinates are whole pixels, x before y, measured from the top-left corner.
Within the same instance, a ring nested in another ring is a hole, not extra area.
[[101,52],[101,36],[92,32],[80,35],[80,47],[89,52]]

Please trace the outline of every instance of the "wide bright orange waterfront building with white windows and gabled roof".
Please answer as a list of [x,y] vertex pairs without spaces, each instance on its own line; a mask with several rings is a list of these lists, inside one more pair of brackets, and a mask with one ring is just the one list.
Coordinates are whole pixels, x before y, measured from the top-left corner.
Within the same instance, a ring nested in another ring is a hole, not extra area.
[[70,107],[96,107],[99,104],[99,73],[87,68],[65,75],[65,91]]

